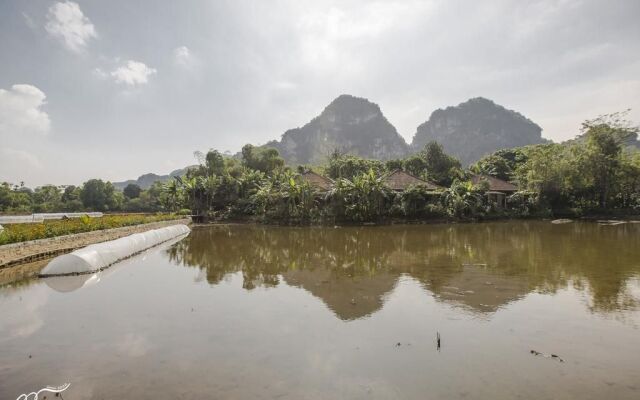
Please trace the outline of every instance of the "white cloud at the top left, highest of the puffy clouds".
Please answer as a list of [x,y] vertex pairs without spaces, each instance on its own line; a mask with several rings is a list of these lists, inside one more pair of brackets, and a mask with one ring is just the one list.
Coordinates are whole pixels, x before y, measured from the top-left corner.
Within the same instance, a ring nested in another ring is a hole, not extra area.
[[98,37],[89,18],[84,16],[78,3],[72,1],[49,7],[45,29],[74,53],[80,53],[89,39]]

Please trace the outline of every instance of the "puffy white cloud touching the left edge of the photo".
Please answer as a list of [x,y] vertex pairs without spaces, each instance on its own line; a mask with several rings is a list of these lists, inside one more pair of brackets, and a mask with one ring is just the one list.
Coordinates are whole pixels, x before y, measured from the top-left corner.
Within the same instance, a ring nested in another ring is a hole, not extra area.
[[32,85],[0,89],[0,136],[49,132],[49,115],[42,111],[45,99],[45,94]]

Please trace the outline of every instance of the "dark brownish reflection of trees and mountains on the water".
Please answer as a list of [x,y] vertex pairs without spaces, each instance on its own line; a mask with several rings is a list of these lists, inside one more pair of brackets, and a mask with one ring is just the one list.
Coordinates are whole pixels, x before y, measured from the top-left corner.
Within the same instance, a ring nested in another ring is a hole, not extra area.
[[627,281],[640,271],[640,226],[510,222],[461,225],[194,229],[175,262],[211,284],[241,272],[243,287],[280,280],[322,299],[344,320],[379,310],[401,275],[440,301],[494,312],[531,291],[586,286],[600,311],[637,306]]

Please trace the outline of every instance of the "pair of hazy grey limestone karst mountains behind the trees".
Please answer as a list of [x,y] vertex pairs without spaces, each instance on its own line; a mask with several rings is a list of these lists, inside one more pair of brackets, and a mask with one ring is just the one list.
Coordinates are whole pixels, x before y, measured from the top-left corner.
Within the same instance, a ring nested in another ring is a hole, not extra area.
[[436,110],[421,124],[408,146],[375,103],[341,95],[301,128],[290,129],[278,149],[289,164],[321,163],[335,149],[366,158],[387,160],[421,150],[430,141],[464,165],[496,150],[544,143],[542,129],[523,115],[478,97]]

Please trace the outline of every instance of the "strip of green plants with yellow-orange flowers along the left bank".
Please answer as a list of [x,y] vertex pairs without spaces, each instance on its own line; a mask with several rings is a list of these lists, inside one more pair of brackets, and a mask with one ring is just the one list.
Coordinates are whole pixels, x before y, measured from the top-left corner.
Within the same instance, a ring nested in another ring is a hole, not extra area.
[[132,214],[49,220],[40,224],[10,224],[4,225],[4,231],[0,232],[0,245],[180,218],[184,217],[176,214]]

